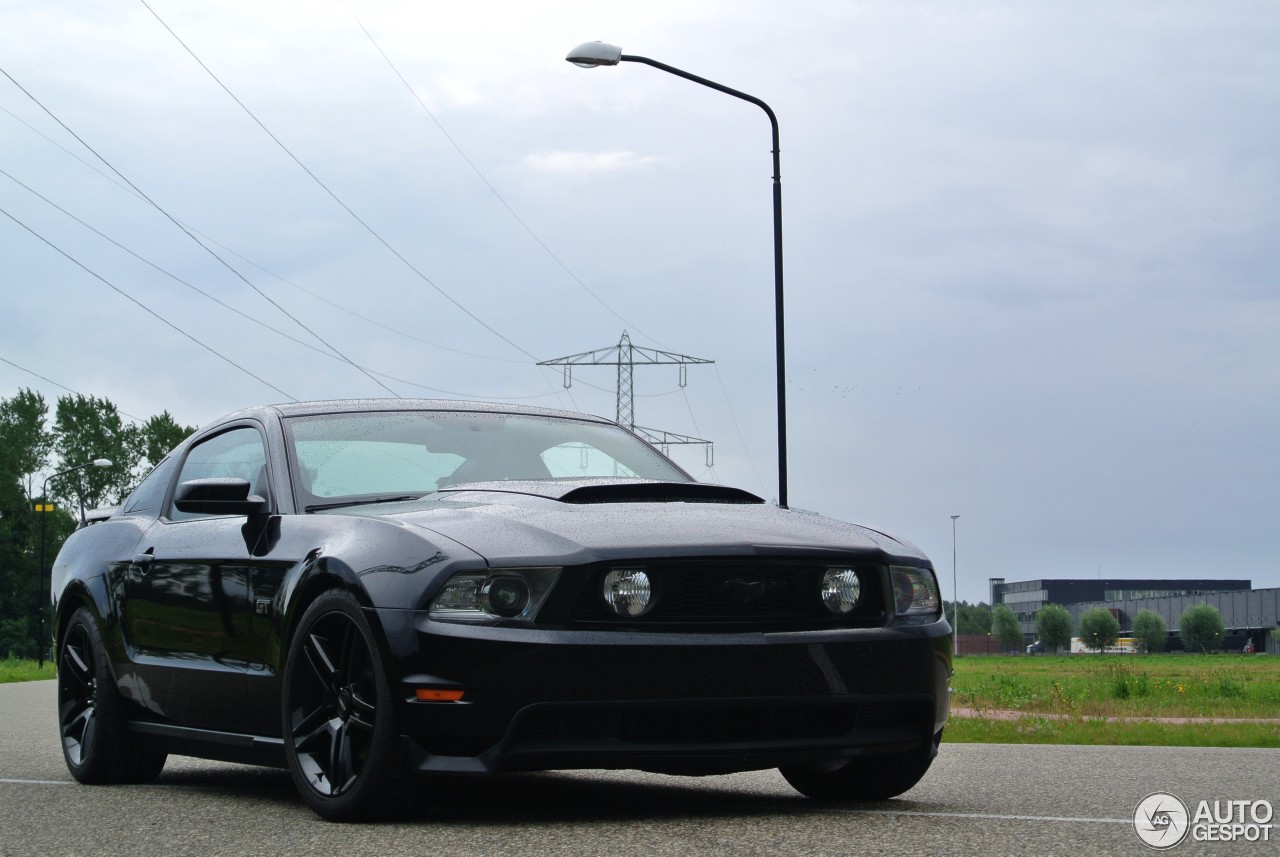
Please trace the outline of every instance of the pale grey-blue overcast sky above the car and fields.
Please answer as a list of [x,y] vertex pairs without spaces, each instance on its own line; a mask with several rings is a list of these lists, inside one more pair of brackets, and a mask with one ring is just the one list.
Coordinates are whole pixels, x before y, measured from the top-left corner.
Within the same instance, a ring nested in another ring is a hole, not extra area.
[[388,395],[335,349],[612,417],[612,368],[534,363],[627,330],[716,361],[637,368],[636,422],[776,498],[768,122],[563,60],[604,40],[778,115],[792,507],[948,597],[961,515],[972,601],[1280,586],[1275,3],[0,3],[0,395]]

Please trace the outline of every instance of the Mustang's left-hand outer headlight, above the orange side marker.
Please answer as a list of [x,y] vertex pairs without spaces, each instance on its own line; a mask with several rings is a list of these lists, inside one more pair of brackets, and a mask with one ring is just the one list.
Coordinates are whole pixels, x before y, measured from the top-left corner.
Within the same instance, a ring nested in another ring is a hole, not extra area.
[[431,600],[439,622],[532,620],[559,577],[558,568],[495,568],[454,574]]

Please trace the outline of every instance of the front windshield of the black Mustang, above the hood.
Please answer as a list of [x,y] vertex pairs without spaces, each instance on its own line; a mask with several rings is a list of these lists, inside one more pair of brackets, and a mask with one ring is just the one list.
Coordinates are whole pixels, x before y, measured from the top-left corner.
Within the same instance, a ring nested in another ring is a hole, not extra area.
[[406,498],[462,482],[622,477],[689,482],[622,428],[465,411],[333,413],[285,420],[300,507]]

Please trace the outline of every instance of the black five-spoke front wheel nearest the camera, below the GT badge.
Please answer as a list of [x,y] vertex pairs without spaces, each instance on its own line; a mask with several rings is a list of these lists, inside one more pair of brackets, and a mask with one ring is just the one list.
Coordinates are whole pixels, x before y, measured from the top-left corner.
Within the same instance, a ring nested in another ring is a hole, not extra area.
[[347,592],[326,592],[302,614],[284,665],[282,721],[293,784],[317,815],[366,821],[403,807],[387,670]]

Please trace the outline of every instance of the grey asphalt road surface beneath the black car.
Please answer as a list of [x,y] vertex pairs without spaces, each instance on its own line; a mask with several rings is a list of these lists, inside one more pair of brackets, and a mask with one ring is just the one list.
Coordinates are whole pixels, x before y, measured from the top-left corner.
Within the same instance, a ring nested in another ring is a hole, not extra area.
[[[275,770],[170,759],[151,785],[78,785],[58,747],[54,693],[52,682],[0,686],[0,854],[1102,857],[1158,853],[1132,825],[1152,792],[1193,807],[1280,806],[1276,750],[943,743],[920,785],[861,808],[815,805],[774,771],[577,771],[451,780],[401,822],[337,825]],[[1261,857],[1280,844],[1188,839],[1170,853]]]

